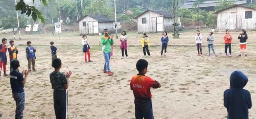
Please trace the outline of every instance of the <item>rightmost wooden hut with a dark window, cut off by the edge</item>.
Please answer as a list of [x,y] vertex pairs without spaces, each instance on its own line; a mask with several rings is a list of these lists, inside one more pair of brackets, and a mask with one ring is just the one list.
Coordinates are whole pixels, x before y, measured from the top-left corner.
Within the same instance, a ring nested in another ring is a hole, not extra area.
[[218,30],[256,29],[256,8],[233,5],[215,13]]

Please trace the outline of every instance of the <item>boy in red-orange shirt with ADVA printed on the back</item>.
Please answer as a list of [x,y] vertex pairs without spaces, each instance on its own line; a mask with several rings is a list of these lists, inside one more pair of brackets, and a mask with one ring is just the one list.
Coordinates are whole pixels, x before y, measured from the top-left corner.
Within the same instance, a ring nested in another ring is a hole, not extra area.
[[140,59],[136,64],[139,73],[134,75],[130,82],[130,87],[135,98],[136,119],[154,119],[150,88],[161,87],[157,81],[145,76],[147,73],[147,65],[148,62],[146,60]]

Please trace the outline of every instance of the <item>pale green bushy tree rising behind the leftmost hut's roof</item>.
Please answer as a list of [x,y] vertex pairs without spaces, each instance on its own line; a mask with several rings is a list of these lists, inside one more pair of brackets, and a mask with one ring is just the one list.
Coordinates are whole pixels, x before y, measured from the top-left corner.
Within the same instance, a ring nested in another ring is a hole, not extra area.
[[109,2],[105,0],[93,0],[83,10],[83,15],[102,14],[109,18],[114,18],[114,7],[108,6]]

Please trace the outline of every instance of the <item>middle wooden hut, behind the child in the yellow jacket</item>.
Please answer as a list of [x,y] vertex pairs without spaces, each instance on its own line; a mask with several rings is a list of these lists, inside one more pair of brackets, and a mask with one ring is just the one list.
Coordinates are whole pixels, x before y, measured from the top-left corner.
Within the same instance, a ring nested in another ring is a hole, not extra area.
[[138,33],[172,31],[173,15],[170,12],[146,10],[135,19],[137,19]]

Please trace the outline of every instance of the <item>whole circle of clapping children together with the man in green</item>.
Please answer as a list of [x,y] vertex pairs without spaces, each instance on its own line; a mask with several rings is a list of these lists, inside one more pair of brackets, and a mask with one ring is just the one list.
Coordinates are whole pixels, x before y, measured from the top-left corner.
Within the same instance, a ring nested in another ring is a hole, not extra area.
[[[102,51],[105,59],[104,73],[108,73],[108,75],[113,75],[114,73],[110,69],[110,59],[111,59],[111,52],[112,47],[114,44],[113,35],[108,34],[108,30],[104,30],[104,35],[101,37],[102,43]],[[202,55],[202,35],[200,31],[197,30],[197,35],[195,36],[196,43],[197,43],[197,50],[198,54]],[[243,49],[246,49],[246,31],[242,30],[238,39],[240,39],[240,47],[242,53]],[[230,48],[230,55],[231,55],[231,41],[232,36],[230,35],[229,31],[226,31],[226,35],[224,37],[225,40],[225,51],[227,51],[227,47]],[[169,38],[167,36],[167,32],[163,32],[162,37],[162,50],[161,56],[163,54],[163,50],[165,50],[166,56],[166,49]],[[209,56],[210,56],[210,48],[212,48],[213,53],[215,56],[216,53],[213,47],[214,36],[213,32],[209,32],[209,36],[207,37],[208,41],[208,48],[209,48]],[[16,112],[15,118],[22,119],[23,118],[23,110],[25,108],[25,92],[24,92],[24,85],[26,83],[27,76],[31,71],[31,63],[32,63],[32,70],[35,71],[35,52],[36,49],[31,46],[31,42],[28,41],[26,48],[27,60],[28,60],[28,70],[23,70],[22,73],[19,72],[18,67],[19,61],[17,60],[18,50],[17,47],[14,46],[14,41],[10,41],[10,47],[6,45],[7,39],[2,39],[2,44],[0,46],[0,56],[1,62],[0,66],[4,67],[4,75],[6,74],[6,50],[8,49],[10,54],[10,83],[13,93],[13,99],[16,102]],[[146,53],[150,56],[150,52],[148,50],[149,38],[144,33],[143,38],[141,39],[143,53],[146,56]],[[53,100],[54,100],[54,109],[56,119],[65,119],[67,118],[67,105],[68,105],[68,86],[69,86],[69,78],[72,75],[72,71],[61,73],[60,69],[62,67],[61,60],[57,58],[57,48],[54,46],[54,43],[51,42],[51,53],[52,53],[52,67],[54,67],[54,71],[50,73],[50,82],[52,84],[53,92]],[[86,53],[89,53],[89,42],[87,37],[84,35],[82,44],[83,52],[85,52],[85,61],[87,62]],[[126,32],[122,32],[122,36],[120,37],[120,49],[122,51],[122,58],[124,56],[124,51],[127,55],[127,36]],[[246,50],[245,50],[246,53]],[[241,54],[240,54],[241,56]],[[90,56],[88,57],[90,61]],[[136,119],[154,119],[153,116],[153,107],[152,107],[152,95],[151,95],[151,88],[160,88],[161,85],[159,82],[147,77],[145,74],[147,73],[148,62],[144,59],[140,59],[136,63],[136,68],[138,70],[138,74],[134,75],[130,81],[130,89],[133,90],[134,95],[134,104],[135,104],[135,117]],[[228,112],[228,119],[234,119],[239,117],[239,119],[247,119],[248,118],[248,109],[252,107],[251,95],[250,92],[243,89],[243,87],[248,82],[246,75],[244,75],[241,71],[235,71],[230,76],[230,89],[227,89],[224,92],[224,106],[227,108]]]

